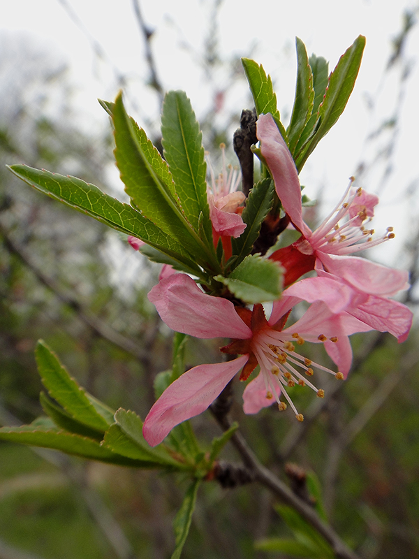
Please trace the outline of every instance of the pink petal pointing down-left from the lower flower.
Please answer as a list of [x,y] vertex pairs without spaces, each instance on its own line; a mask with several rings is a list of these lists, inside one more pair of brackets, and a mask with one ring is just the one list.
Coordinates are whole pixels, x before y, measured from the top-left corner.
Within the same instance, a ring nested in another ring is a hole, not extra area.
[[148,444],[155,447],[173,427],[205,412],[248,358],[244,355],[225,363],[198,365],[170,384],[150,409],[142,426]]

